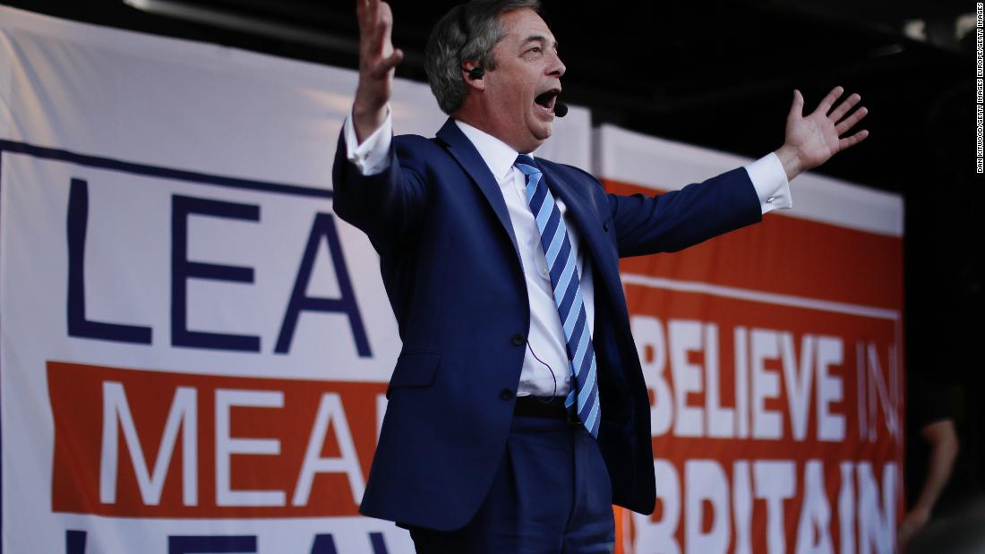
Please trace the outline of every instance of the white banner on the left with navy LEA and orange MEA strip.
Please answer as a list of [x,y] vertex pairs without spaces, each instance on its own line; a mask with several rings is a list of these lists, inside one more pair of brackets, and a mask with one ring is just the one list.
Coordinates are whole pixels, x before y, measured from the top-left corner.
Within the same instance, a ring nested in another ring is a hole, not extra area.
[[[432,136],[427,86],[396,89]],[[355,90],[0,8],[4,552],[413,552],[357,513],[400,340],[332,214]],[[544,155],[587,166],[589,125]]]

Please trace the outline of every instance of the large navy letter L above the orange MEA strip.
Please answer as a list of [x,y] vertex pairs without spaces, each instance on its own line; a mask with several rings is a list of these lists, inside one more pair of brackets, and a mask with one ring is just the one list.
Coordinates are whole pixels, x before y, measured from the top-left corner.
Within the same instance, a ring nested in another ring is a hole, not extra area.
[[68,192],[68,336],[81,339],[151,343],[151,328],[86,319],[86,230],[89,223],[89,183],[72,179]]

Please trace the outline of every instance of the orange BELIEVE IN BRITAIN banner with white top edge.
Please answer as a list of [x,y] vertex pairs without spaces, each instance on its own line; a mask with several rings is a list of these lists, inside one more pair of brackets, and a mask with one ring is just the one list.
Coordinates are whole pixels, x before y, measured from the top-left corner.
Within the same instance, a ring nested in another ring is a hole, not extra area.
[[[678,189],[750,161],[614,127],[597,135],[615,193]],[[621,513],[627,552],[892,551],[902,201],[810,174],[792,191],[794,209],[759,225],[623,261],[659,499],[652,517]]]

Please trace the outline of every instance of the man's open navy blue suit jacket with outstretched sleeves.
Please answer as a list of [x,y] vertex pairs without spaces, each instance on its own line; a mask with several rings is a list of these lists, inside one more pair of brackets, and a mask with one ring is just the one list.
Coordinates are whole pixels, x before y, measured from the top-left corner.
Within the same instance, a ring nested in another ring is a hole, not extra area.
[[[434,139],[398,136],[362,176],[340,140],[334,210],[368,235],[403,340],[362,498],[363,515],[455,529],[493,481],[513,417],[530,306],[502,193],[448,120]],[[602,422],[613,503],[655,507],[650,403],[629,334],[619,259],[677,251],[761,218],[745,169],[681,191],[606,194],[592,175],[538,158],[593,264]]]

